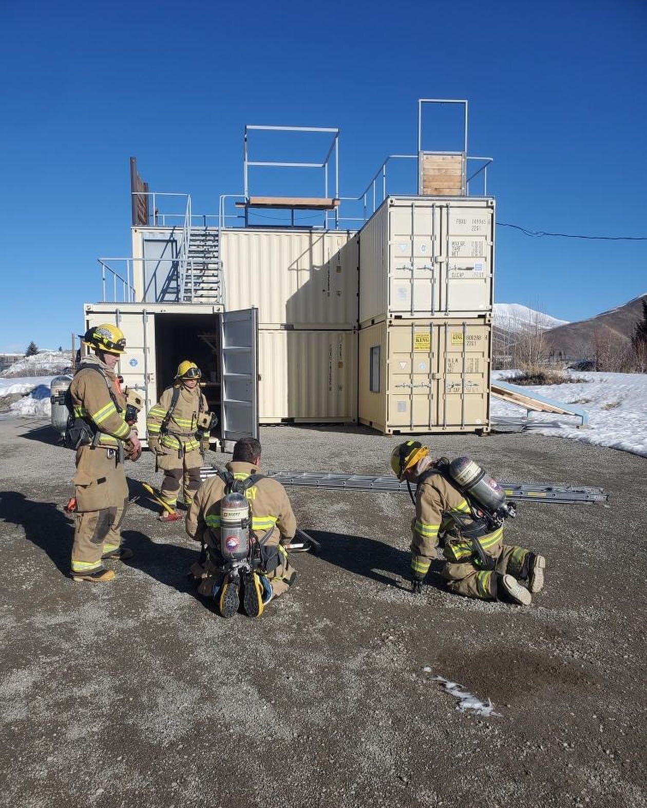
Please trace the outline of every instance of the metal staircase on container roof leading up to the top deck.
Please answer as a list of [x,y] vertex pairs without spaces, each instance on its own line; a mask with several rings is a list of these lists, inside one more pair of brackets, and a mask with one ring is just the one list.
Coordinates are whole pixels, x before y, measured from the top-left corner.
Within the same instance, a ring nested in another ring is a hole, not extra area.
[[218,229],[192,227],[181,303],[222,303],[222,271]]

